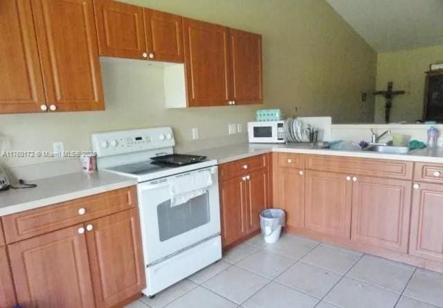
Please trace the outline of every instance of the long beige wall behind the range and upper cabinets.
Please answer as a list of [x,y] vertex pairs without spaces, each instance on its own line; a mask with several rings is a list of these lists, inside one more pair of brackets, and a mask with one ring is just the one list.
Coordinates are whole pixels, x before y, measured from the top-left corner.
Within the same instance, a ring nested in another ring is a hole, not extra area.
[[[10,141],[6,149],[52,150],[54,141],[63,141],[66,150],[89,150],[92,132],[159,125],[172,125],[181,146],[190,141],[192,127],[199,127],[200,138],[213,145],[235,142],[244,134],[228,138],[227,124],[245,126],[263,107],[281,107],[287,115],[298,107],[300,116],[355,122],[361,117],[361,91],[374,89],[376,53],[323,0],[126,2],[261,33],[266,104],[168,110],[155,69],[147,62],[116,61],[102,66],[106,111],[0,116],[0,134]],[[5,162],[17,166],[42,160]]]

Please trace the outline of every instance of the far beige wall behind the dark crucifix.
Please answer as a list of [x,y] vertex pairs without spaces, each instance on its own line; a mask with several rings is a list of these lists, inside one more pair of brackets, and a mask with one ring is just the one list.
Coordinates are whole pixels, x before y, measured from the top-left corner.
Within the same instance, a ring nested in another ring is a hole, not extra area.
[[[443,62],[443,45],[415,48],[407,51],[379,53],[377,55],[377,90],[386,90],[394,82],[394,90],[406,93],[392,103],[390,122],[406,120],[414,123],[422,118],[424,99],[424,72],[429,64]],[[375,100],[375,122],[384,123],[385,100]]]

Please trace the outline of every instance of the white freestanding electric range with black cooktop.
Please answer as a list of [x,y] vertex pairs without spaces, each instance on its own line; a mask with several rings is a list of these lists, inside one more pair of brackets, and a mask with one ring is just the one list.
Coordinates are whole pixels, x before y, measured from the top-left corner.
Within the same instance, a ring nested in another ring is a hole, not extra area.
[[[179,166],[153,161],[168,156],[186,164],[183,156],[172,156],[175,141],[170,127],[92,134],[91,141],[99,170],[138,179],[147,278],[143,293],[154,296],[221,258],[217,161]],[[184,203],[171,201],[170,185],[194,183],[199,175],[205,175],[210,185],[189,192],[192,198]]]

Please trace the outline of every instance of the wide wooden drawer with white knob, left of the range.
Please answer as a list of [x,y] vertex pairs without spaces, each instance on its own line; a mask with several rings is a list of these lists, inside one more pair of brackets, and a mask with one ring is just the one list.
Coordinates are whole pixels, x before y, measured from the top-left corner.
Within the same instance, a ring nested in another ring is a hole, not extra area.
[[136,188],[122,188],[2,217],[12,243],[137,206]]

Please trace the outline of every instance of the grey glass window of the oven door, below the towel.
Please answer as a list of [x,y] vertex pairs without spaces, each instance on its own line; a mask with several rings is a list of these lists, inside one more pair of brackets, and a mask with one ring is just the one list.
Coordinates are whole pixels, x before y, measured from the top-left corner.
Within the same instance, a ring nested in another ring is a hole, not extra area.
[[157,206],[160,242],[181,235],[210,221],[209,193],[201,194],[188,202],[171,206],[165,201]]

